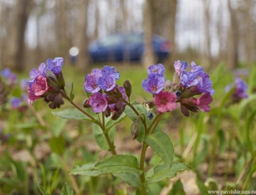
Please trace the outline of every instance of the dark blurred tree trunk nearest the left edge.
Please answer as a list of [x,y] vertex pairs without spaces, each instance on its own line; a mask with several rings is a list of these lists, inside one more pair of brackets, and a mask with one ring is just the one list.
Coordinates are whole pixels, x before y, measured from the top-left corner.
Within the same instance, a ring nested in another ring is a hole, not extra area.
[[31,0],[19,0],[17,1],[17,31],[16,31],[16,50],[15,50],[15,69],[17,71],[22,71],[25,65],[25,30],[26,23],[29,18],[29,13],[33,7],[33,1]]

